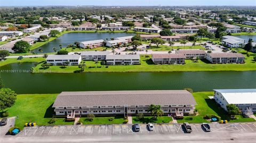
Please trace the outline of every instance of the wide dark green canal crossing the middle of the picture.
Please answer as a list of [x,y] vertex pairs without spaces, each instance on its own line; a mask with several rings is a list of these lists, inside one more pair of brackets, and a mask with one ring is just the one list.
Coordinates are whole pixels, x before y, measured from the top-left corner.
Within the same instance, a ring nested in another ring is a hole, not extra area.
[[[192,88],[256,88],[256,71],[246,72],[133,72],[133,73],[29,73],[35,63],[1,67],[6,87],[18,94],[46,94],[89,90],[162,90]],[[17,70],[10,73],[10,70]],[[24,71],[23,71],[24,70]],[[7,72],[9,71],[9,72]]]

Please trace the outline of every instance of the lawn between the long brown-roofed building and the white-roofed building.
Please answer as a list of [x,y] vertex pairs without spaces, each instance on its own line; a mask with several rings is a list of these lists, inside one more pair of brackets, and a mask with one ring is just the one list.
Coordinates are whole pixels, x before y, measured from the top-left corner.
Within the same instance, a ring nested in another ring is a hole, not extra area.
[[[199,115],[197,116],[184,116],[184,119],[177,120],[179,123],[183,122],[190,122],[190,123],[202,123],[202,122],[209,122],[204,120],[203,117],[205,115],[219,115],[221,120],[228,120],[229,116],[227,112],[225,112],[221,107],[217,105],[217,103],[210,99],[209,96],[213,96],[212,91],[206,92],[195,92],[193,94],[196,100],[196,109]],[[193,117],[193,120],[189,120],[188,117]],[[244,118],[241,115],[236,115],[236,120],[230,120],[229,122],[253,122],[254,119],[252,118]]]

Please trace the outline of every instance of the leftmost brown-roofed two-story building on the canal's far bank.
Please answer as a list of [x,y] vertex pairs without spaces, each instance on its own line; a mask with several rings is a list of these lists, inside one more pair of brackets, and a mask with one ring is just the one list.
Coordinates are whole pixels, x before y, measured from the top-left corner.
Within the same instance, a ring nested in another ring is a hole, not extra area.
[[185,64],[183,54],[153,54],[152,61],[155,64]]

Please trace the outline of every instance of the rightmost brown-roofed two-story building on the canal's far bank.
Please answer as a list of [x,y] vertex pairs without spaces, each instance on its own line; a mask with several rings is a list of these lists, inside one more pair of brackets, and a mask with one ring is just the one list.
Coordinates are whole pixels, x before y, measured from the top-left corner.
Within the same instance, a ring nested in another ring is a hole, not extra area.
[[244,63],[244,55],[241,53],[207,53],[206,60],[216,63]]

